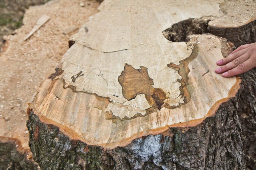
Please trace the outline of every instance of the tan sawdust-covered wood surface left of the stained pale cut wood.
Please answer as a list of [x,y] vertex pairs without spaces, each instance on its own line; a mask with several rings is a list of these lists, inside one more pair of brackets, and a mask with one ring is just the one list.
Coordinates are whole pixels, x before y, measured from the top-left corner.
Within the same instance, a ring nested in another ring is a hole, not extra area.
[[[80,6],[80,3],[85,6]],[[28,131],[25,110],[33,100],[40,83],[51,73],[68,49],[68,40],[74,29],[80,28],[88,18],[97,13],[99,2],[92,0],[53,0],[45,5],[30,7],[24,15],[24,25],[5,36],[5,46],[0,53],[0,136],[17,138],[27,150]],[[24,37],[41,15],[50,16],[27,41]]]

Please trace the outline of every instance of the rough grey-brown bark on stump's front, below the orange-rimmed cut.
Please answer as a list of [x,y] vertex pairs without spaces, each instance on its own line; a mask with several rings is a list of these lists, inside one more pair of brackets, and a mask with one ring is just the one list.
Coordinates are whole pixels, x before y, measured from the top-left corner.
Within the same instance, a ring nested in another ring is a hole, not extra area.
[[71,140],[30,111],[27,127],[33,158],[42,169],[244,169],[237,116],[243,87],[196,127],[170,128],[113,150]]

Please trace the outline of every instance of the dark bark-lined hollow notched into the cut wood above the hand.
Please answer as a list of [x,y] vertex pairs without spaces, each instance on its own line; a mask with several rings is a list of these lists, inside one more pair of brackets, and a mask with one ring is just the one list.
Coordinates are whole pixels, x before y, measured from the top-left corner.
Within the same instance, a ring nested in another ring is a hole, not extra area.
[[173,24],[170,28],[163,31],[163,34],[172,42],[185,41],[188,35],[204,33],[210,33],[218,37],[223,37],[234,43],[236,47],[256,42],[256,20],[239,27],[221,28],[208,25],[213,19],[214,17],[202,17],[200,19],[190,18],[183,20]]

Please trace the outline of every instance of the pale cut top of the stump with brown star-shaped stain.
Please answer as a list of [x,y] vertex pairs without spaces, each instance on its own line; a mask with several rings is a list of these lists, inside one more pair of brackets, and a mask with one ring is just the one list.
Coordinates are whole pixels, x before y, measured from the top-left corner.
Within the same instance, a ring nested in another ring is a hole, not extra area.
[[239,78],[214,73],[232,44],[211,34],[170,42],[163,31],[188,18],[222,17],[218,3],[104,1],[31,108],[72,139],[108,149],[201,123],[239,89]]

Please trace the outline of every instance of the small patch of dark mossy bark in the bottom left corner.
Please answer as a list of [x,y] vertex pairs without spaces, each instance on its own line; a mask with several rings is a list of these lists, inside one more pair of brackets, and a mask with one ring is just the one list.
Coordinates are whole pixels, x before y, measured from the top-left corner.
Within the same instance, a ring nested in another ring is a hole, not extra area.
[[0,170],[32,170],[37,169],[38,165],[33,160],[25,158],[16,149],[16,143],[0,143]]

